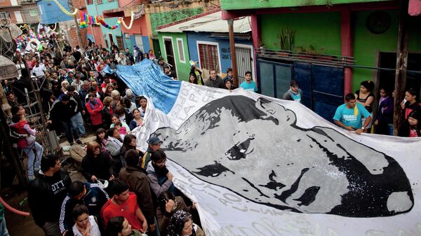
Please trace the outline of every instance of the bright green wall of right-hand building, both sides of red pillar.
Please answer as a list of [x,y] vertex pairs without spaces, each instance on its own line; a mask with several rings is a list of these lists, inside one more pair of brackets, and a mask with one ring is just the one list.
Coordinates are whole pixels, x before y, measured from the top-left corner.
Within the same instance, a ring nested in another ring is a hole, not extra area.
[[[378,53],[396,53],[398,36],[398,10],[386,11],[392,18],[392,25],[387,32],[373,34],[366,27],[368,15],[373,11],[357,11],[352,13],[354,34],[354,59],[356,65],[365,67],[378,66]],[[269,49],[280,50],[276,34],[281,27],[295,30],[294,46],[314,46],[321,54],[341,55],[340,13],[287,13],[260,15],[262,42]],[[409,52],[421,52],[421,18],[410,18]],[[194,57],[192,56],[193,60]],[[357,90],[361,81],[375,81],[376,73],[372,69],[353,69],[352,90]]]

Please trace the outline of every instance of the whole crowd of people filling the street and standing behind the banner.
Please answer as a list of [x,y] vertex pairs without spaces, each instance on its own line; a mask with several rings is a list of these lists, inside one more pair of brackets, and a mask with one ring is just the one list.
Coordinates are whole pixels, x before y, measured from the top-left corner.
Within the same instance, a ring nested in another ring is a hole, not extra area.
[[[115,74],[104,71],[105,67],[116,69],[116,64],[156,60],[153,51],[143,54],[134,46],[132,55],[128,48],[120,51],[114,43],[109,50],[95,43],[83,51],[65,43],[60,50],[48,39],[41,48],[27,53],[17,51],[14,61],[25,64],[27,69],[21,70],[22,76],[13,86],[8,81],[3,84],[12,106],[11,134],[27,155],[27,176],[31,181],[28,200],[36,225],[46,235],[204,235],[192,221],[197,218],[196,203],[187,206],[173,185],[173,174],[166,168],[166,153],[160,148],[162,141],[151,137],[145,153],[136,148],[131,131],[143,125],[147,98],[136,96]],[[178,79],[162,57],[157,62],[164,74]],[[218,76],[215,69],[210,69],[205,80],[202,73],[193,62],[188,82],[235,89],[232,69],[227,70],[225,78]],[[81,162],[86,183],[72,181],[56,155],[43,157],[43,147],[36,141],[37,132],[26,120],[23,106],[27,100],[22,91],[30,92],[29,85],[34,83],[31,75],[47,81],[35,83],[41,87],[41,103],[50,130],[65,137],[70,146],[82,144],[80,137],[87,136],[86,127],[95,132],[96,139],[86,145]],[[239,87],[258,90],[250,71],[244,74]],[[363,81],[359,90],[346,95],[346,103],[333,117],[335,124],[361,134],[368,132],[373,123],[375,132],[391,135],[392,92],[380,89],[374,118],[373,89],[373,82]],[[298,82],[290,81],[283,99],[302,102],[302,97]],[[421,137],[420,107],[417,92],[406,90],[401,103],[406,120],[401,132],[404,136]]]

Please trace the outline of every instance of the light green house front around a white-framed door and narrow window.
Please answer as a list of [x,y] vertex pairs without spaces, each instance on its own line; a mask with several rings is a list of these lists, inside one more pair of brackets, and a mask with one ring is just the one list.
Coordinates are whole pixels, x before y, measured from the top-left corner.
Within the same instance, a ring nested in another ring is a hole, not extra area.
[[[190,57],[189,47],[187,46],[187,35],[185,33],[158,33],[159,46],[161,48],[162,57],[166,60],[166,51],[163,46],[163,37],[171,37],[173,41],[173,50],[175,56],[175,67],[177,69],[178,80],[188,81],[190,74]],[[185,62],[180,62],[180,53],[178,48],[177,39],[182,39]]]

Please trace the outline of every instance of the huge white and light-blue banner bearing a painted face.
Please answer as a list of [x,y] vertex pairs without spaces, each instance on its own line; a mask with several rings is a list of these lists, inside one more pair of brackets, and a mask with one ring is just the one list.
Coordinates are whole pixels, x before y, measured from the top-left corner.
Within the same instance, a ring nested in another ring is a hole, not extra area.
[[358,135],[299,102],[173,81],[150,60],[116,74],[147,97],[137,148],[163,141],[206,235],[421,235],[421,138]]

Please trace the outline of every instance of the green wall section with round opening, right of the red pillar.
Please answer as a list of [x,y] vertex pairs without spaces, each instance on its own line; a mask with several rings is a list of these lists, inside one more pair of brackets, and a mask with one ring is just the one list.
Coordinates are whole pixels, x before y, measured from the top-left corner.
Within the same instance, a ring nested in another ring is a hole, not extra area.
[[[392,16],[392,25],[383,34],[373,34],[366,27],[367,16],[372,11],[354,13],[354,58],[355,64],[366,67],[377,67],[377,57],[380,52],[396,53],[399,11],[387,11]],[[421,52],[421,19],[410,18],[409,22],[409,53]],[[352,88],[357,90],[362,81],[375,81],[375,71],[370,69],[353,69]]]

